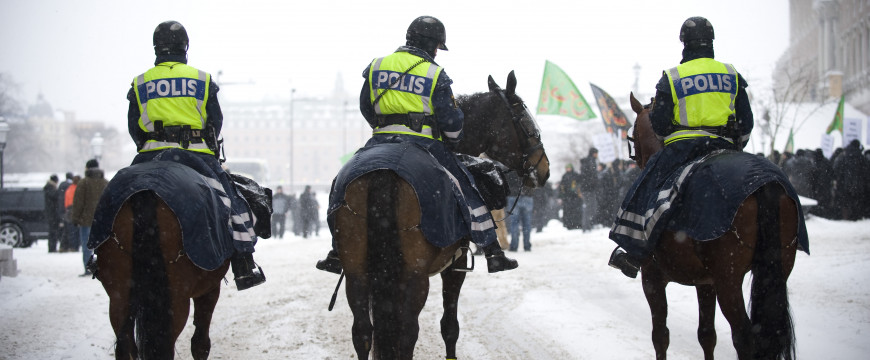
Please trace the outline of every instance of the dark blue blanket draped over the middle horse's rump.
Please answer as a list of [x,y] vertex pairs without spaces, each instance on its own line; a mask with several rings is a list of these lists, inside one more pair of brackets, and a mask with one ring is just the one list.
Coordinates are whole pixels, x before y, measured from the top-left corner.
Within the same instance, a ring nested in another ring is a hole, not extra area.
[[392,170],[414,188],[422,213],[420,228],[429,243],[446,247],[469,234],[470,208],[448,171],[418,145],[397,142],[359,149],[336,175],[326,217],[333,235],[335,211],[346,204],[347,185],[376,170]]

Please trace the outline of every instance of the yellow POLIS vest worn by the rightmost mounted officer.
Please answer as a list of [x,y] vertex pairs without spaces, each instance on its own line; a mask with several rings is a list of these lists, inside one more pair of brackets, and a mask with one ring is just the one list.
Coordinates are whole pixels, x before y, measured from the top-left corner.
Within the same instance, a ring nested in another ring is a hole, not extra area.
[[[728,117],[734,115],[738,89],[734,66],[700,58],[671,68],[666,74],[674,102],[675,125],[725,126]],[[718,137],[703,130],[680,130],[665,137],[665,145],[700,136]]]

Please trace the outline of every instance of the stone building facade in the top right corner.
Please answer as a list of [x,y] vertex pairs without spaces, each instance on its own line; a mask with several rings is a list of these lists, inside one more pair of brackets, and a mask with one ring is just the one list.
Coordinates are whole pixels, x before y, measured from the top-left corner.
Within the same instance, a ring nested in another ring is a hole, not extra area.
[[870,0],[790,0],[789,47],[777,62],[779,101],[846,96],[870,113]]

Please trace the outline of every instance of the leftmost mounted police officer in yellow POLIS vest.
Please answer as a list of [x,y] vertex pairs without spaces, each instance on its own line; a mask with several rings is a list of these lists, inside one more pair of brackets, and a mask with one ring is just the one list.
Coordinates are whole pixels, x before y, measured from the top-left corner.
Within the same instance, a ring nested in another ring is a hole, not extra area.
[[[211,75],[187,65],[187,48],[187,30],[177,21],[154,29],[155,66],[133,79],[127,93],[128,130],[139,151],[133,164],[178,161],[219,183],[215,191],[228,198],[230,208],[236,287],[245,290],[266,281],[252,255],[257,240],[253,219],[216,156],[223,125],[218,86]],[[162,156],[173,152],[183,156]]]

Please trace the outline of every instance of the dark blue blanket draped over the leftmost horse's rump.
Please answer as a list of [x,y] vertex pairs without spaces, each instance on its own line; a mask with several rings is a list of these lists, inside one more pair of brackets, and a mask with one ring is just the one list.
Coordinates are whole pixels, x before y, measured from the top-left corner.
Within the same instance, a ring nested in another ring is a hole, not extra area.
[[115,216],[127,199],[152,190],[178,218],[187,257],[204,270],[217,269],[235,250],[229,208],[209,182],[216,180],[174,161],[149,161],[121,169],[97,205],[88,248],[110,239]]

